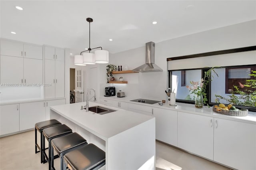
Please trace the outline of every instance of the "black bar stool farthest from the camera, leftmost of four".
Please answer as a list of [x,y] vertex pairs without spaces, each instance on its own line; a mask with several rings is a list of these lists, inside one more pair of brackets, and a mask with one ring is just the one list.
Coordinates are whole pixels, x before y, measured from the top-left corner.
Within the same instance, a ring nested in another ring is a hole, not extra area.
[[[43,129],[44,128],[48,128],[48,127],[54,127],[57,125],[61,125],[61,123],[59,121],[57,121],[56,119],[51,119],[48,121],[42,121],[42,122],[38,122],[35,124],[35,152],[41,152],[41,163],[43,163],[43,152],[42,152],[42,146],[43,146]],[[38,132],[40,132],[40,146],[37,144],[37,130]],[[37,151],[37,148],[39,149],[39,151]]]

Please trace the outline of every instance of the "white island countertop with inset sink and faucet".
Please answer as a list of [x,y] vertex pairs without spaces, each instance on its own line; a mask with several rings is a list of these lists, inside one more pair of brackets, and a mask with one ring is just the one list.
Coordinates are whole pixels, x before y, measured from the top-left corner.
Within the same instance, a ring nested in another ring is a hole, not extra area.
[[50,109],[105,141],[120,132],[140,125],[150,119],[155,119],[152,116],[89,102],[89,107],[98,105],[116,110],[112,113],[99,115],[91,111],[86,112],[85,109],[81,110],[82,105],[86,105],[86,102],[58,105],[50,107]]

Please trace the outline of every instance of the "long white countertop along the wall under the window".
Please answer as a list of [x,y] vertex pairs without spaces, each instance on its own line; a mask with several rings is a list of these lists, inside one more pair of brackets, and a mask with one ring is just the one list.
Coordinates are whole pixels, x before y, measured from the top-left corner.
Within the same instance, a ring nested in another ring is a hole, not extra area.
[[111,96],[111,97],[101,97],[104,99],[111,99],[111,100],[116,100],[116,101],[123,101],[127,103],[132,103],[132,104],[137,104],[137,105],[145,105],[149,107],[157,107],[161,109],[169,109],[169,110],[174,110],[174,111],[180,111],[180,112],[186,112],[186,113],[193,113],[197,115],[203,115],[203,116],[209,116],[209,117],[216,117],[220,119],[228,119],[232,121],[240,121],[244,123],[252,123],[256,124],[256,112],[248,112],[248,115],[245,117],[237,117],[237,116],[227,116],[227,115],[222,115],[215,113],[212,111],[212,107],[203,107],[202,109],[197,109],[193,104],[186,104],[186,103],[178,103],[176,102],[177,106],[170,106],[167,103],[164,103],[163,106],[160,106],[158,103],[155,104],[146,104],[146,103],[138,103],[130,100],[134,100],[134,98],[130,97],[116,97],[116,96]]

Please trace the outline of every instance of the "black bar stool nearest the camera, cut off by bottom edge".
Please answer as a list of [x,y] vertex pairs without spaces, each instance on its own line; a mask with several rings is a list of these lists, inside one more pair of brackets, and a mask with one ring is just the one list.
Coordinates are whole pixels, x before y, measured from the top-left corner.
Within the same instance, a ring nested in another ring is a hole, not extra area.
[[64,155],[63,167],[66,170],[98,170],[106,164],[105,152],[90,143]]

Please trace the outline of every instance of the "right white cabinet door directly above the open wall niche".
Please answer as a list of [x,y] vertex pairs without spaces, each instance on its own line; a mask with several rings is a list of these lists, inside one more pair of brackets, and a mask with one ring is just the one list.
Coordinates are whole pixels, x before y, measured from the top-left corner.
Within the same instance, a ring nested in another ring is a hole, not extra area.
[[24,83],[43,82],[43,61],[24,58]]

